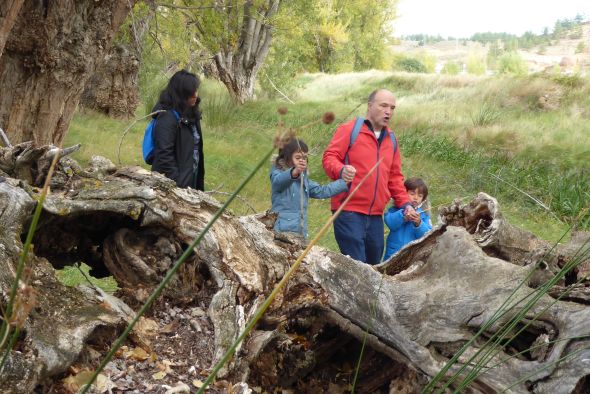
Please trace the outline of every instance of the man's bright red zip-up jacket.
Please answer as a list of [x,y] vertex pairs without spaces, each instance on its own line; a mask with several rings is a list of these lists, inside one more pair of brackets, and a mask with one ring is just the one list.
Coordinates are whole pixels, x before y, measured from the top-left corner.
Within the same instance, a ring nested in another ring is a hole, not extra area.
[[[383,158],[383,161],[369,175],[344,210],[365,215],[383,215],[390,198],[393,198],[396,207],[407,205],[410,198],[404,187],[399,144],[394,152],[393,142],[388,135],[381,135],[381,144],[378,144],[375,133],[369,129],[365,121],[356,141],[348,150],[354,122],[353,119],[338,126],[332,141],[324,151],[322,165],[328,177],[334,180],[340,179],[344,158],[348,153],[348,164],[356,168],[356,175],[349,187],[352,191],[379,159]],[[387,133],[390,133],[389,129]],[[337,210],[347,196],[348,192],[343,192],[332,197],[332,210]]]

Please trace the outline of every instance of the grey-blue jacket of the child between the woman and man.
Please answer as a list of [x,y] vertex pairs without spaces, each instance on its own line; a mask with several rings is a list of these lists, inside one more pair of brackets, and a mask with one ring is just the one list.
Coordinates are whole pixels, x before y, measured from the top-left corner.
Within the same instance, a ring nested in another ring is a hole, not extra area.
[[[301,175],[300,175],[301,176]],[[281,169],[273,165],[270,170],[272,211],[279,214],[275,231],[290,231],[301,234],[301,201],[299,178],[291,178],[291,168]],[[303,235],[307,238],[307,203],[309,198],[329,198],[346,191],[343,179],[320,185],[303,174]]]

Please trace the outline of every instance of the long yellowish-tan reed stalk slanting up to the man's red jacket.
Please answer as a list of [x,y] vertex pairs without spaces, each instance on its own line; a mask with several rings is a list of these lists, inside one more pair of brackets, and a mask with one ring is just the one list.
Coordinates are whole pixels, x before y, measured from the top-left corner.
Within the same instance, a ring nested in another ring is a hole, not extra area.
[[350,194],[348,195],[348,197],[346,197],[346,199],[344,200],[344,202],[342,203],[342,205],[340,205],[340,208],[338,208],[338,210],[336,212],[334,212],[334,214],[332,216],[330,216],[330,218],[328,219],[328,221],[326,221],[326,223],[322,226],[322,228],[317,233],[317,235],[307,245],[307,247],[305,248],[305,250],[303,251],[303,253],[299,256],[299,258],[297,258],[297,260],[293,263],[293,265],[291,265],[291,268],[289,268],[289,270],[283,276],[283,278],[279,281],[279,283],[277,283],[275,285],[275,288],[270,293],[270,295],[268,296],[268,298],[264,301],[264,303],[260,306],[260,308],[258,308],[258,310],[254,313],[254,316],[250,319],[250,321],[248,322],[248,324],[244,328],[244,332],[242,332],[238,336],[238,338],[234,341],[234,343],[232,343],[232,345],[227,350],[227,352],[225,352],[225,354],[223,355],[223,357],[221,358],[221,360],[219,360],[217,362],[217,364],[215,364],[215,366],[213,367],[213,370],[211,371],[211,374],[209,374],[209,376],[207,377],[207,380],[205,380],[205,382],[203,382],[203,385],[199,388],[199,391],[197,391],[197,394],[201,394],[201,393],[204,393],[205,392],[205,389],[207,388],[207,386],[209,386],[209,384],[211,384],[211,382],[215,379],[215,377],[217,376],[217,374],[219,373],[219,371],[221,370],[221,368],[223,368],[223,366],[225,365],[225,363],[232,357],[232,355],[234,354],[236,348],[244,340],[244,338],[246,337],[246,335],[248,335],[250,333],[250,331],[252,331],[252,329],[254,328],[254,326],[256,325],[256,323],[258,322],[258,320],[260,320],[260,318],[262,317],[262,315],[264,314],[264,312],[266,311],[266,309],[268,309],[268,307],[270,306],[270,304],[272,304],[272,302],[274,301],[274,299],[277,296],[277,294],[279,293],[279,291],[289,281],[289,278],[297,270],[297,268],[299,267],[299,264],[301,264],[301,262],[303,261],[303,259],[305,258],[305,256],[307,256],[307,254],[309,253],[309,251],[311,250],[311,248],[322,238],[322,236],[326,233],[326,231],[328,231],[328,229],[330,228],[330,225],[332,224],[332,222],[338,217],[338,215],[340,215],[340,212],[342,212],[342,210],[348,204],[348,202],[350,201],[350,199],[352,198],[352,196],[354,196],[354,194],[357,192],[357,190],[359,189],[359,187],[363,183],[365,183],[365,181],[367,180],[367,178],[369,177],[369,175],[371,175],[373,173],[373,171],[375,171],[375,169],[379,166],[379,164],[381,164],[381,161],[382,160],[383,160],[383,158],[381,158],[373,166],[373,168],[371,168],[371,170],[367,173],[367,175],[365,175],[365,177],[359,182],[359,184],[356,185],[356,187],[354,188],[354,190],[352,192],[350,192]]

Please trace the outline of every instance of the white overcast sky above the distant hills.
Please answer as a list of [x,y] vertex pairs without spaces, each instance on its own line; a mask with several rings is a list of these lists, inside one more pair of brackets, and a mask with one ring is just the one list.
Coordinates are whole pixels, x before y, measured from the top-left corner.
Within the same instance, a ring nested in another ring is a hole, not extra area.
[[590,0],[399,0],[396,37],[440,34],[467,38],[477,32],[521,35],[549,31],[558,19],[582,14],[590,19]]

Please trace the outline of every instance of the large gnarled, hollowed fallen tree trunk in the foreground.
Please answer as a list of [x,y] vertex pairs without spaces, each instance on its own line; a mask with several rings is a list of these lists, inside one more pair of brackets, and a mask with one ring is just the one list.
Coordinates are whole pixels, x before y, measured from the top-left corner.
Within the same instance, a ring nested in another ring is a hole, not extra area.
[[[22,144],[0,151],[4,299],[48,152],[59,153]],[[17,174],[34,187],[16,180]],[[2,375],[0,386],[12,388],[18,380],[24,383],[13,390],[24,392],[56,376],[74,362],[82,342],[97,327],[114,330],[124,320],[124,313],[104,308],[77,318],[76,311],[96,309],[102,301],[60,285],[52,265],[85,261],[106,269],[122,287],[121,296],[128,302],[143,301],[219,207],[209,195],[178,189],[139,167],[116,169],[95,158],[81,169],[63,158],[34,241],[30,285],[43,294],[42,301],[27,319],[18,351],[11,353],[12,372]],[[302,251],[301,242],[274,234],[272,224],[261,219],[222,215],[165,291],[167,299],[184,303],[211,295],[207,315],[214,346],[206,365],[222,357]],[[377,267],[313,248],[221,376],[267,390],[334,391],[337,386],[346,391],[363,349],[358,392],[420,390],[505,300],[530,298],[576,252],[574,245],[550,250],[550,245],[511,226],[497,202],[485,194],[468,205],[453,204],[441,219],[425,238]],[[584,247],[580,239],[576,242]],[[585,350],[590,344],[590,309],[583,280],[588,264],[582,262],[525,313],[516,330],[530,325],[511,343],[496,346],[488,366],[497,365],[478,376],[473,391],[590,389],[590,351]],[[574,283],[575,294],[570,292]],[[60,308],[64,312],[57,313]],[[500,323],[522,308],[515,306],[488,327],[450,371],[457,371]],[[47,326],[60,329],[48,333],[43,331]],[[76,346],[64,349],[61,336],[68,327],[80,335],[71,341]],[[44,339],[42,345],[39,338]],[[67,357],[56,359],[56,354]]]

